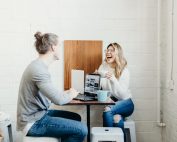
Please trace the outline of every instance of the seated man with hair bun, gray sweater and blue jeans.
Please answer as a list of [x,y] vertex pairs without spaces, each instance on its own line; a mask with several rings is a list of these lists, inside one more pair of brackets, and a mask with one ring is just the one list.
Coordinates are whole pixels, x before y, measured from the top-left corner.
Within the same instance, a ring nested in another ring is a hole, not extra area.
[[50,104],[63,105],[78,95],[75,89],[59,92],[52,84],[48,67],[59,60],[58,36],[53,33],[34,35],[39,57],[25,69],[19,87],[17,130],[27,136],[56,137],[62,142],[82,142],[87,126],[79,114],[49,110]]

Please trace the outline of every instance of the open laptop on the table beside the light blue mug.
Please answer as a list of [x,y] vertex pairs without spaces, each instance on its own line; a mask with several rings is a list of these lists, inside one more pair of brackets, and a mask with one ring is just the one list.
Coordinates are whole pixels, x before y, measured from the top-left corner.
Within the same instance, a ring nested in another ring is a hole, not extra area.
[[84,81],[84,93],[74,98],[81,101],[94,101],[97,100],[97,91],[100,89],[100,75],[99,74],[86,74]]

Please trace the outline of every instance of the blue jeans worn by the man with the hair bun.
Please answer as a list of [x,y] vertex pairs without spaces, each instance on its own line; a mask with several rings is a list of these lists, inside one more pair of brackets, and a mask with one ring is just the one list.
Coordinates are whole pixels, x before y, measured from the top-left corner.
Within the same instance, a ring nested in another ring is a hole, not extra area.
[[36,121],[27,136],[56,137],[62,142],[83,142],[87,135],[87,126],[80,122],[81,117],[77,113],[48,110],[47,113]]

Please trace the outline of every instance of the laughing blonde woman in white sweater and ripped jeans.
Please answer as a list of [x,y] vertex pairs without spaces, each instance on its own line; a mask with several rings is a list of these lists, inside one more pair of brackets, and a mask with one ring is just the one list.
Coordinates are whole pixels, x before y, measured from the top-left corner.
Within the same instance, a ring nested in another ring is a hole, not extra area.
[[103,112],[104,127],[120,127],[124,131],[124,118],[134,111],[132,95],[129,90],[129,71],[127,61],[118,43],[111,43],[105,50],[105,60],[100,65],[101,87],[111,92],[116,101],[113,106],[106,106]]

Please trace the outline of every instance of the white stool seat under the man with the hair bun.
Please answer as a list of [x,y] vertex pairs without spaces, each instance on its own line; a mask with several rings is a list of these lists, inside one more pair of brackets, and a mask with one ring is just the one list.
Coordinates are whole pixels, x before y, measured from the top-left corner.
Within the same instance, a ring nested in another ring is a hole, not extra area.
[[60,139],[51,137],[28,137],[23,138],[23,142],[60,142]]

